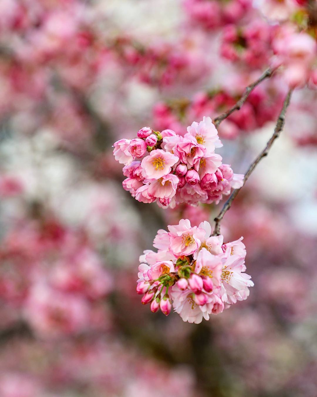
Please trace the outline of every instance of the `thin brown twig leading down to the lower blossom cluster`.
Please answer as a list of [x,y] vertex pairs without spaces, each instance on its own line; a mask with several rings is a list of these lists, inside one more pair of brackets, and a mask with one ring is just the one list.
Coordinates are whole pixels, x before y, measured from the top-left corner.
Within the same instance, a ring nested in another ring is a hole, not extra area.
[[[283,130],[284,127],[284,123],[285,123],[285,115],[286,115],[286,109],[290,103],[290,96],[292,94],[292,90],[288,91],[288,94],[284,100],[283,103],[283,107],[281,110],[281,113],[279,114],[279,118],[277,119],[277,123],[275,125],[275,129],[274,129],[274,133],[271,136],[271,138],[269,139],[269,141],[267,142],[265,148],[262,150],[262,152],[256,157],[256,159],[254,160],[254,162],[252,162],[252,164],[250,165],[248,171],[246,172],[246,174],[244,175],[243,178],[243,185],[246,183],[246,181],[248,180],[249,176],[251,175],[251,173],[253,172],[254,168],[256,168],[256,166],[259,164],[259,162],[262,160],[262,158],[264,158],[265,156],[267,156],[267,154],[269,153],[269,150],[271,148],[271,146],[273,145],[273,142],[275,141],[275,139],[277,139],[281,133],[281,131]],[[233,200],[235,199],[235,197],[237,197],[237,194],[239,193],[240,189],[242,189],[242,187],[240,187],[239,189],[235,189],[230,197],[228,198],[228,200],[225,202],[225,204],[223,205],[222,210],[220,211],[219,215],[214,219],[214,221],[216,222],[215,224],[215,229],[214,229],[214,233],[212,234],[213,236],[218,236],[220,235],[220,222],[222,221],[223,216],[225,215],[225,213],[227,212],[227,210],[230,209],[231,204],[233,202]]]

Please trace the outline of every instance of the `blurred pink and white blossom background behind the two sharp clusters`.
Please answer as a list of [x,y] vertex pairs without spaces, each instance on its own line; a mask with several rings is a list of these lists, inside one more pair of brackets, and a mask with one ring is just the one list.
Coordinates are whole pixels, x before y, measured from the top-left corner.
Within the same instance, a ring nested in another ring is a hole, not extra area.
[[[244,236],[255,286],[209,322],[152,314],[137,266],[158,229],[212,221],[222,203],[137,202],[111,147],[145,125],[185,133],[219,115],[269,66],[277,29],[307,10],[1,0],[1,397],[317,395],[313,83],[294,91],[285,130],[223,220],[226,241]],[[220,126],[218,152],[236,173],[264,147],[287,90],[277,73]]]

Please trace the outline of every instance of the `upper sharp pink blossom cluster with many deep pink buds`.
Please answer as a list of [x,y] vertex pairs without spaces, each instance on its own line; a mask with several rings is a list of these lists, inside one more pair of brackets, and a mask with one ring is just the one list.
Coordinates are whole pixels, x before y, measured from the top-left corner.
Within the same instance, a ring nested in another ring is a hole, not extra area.
[[243,185],[243,175],[234,174],[214,152],[221,146],[211,118],[204,117],[187,127],[184,136],[170,129],[160,133],[144,127],[137,138],[116,141],[113,153],[125,164],[125,190],[140,202],[156,201],[173,208],[183,202],[218,203],[231,188]]

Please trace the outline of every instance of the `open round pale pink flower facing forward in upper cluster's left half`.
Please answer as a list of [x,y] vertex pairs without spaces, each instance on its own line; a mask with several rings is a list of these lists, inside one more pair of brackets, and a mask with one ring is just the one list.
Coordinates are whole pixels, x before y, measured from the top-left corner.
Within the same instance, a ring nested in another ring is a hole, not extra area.
[[147,179],[160,179],[171,172],[178,160],[177,156],[162,149],[152,150],[141,162],[143,176]]

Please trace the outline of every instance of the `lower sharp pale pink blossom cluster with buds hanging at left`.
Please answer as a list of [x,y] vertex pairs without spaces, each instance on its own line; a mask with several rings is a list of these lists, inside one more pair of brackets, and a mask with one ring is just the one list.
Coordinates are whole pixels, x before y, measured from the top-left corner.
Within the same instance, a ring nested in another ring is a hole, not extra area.
[[168,316],[172,307],[183,321],[199,324],[249,295],[254,284],[244,273],[243,237],[223,244],[223,236],[211,236],[211,226],[191,227],[188,219],[159,230],[153,246],[140,256],[137,293],[150,303],[152,312]]

